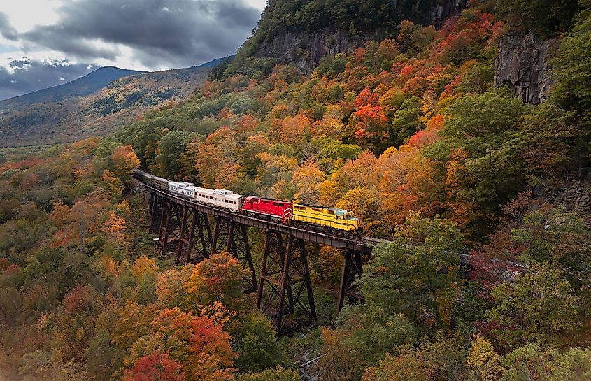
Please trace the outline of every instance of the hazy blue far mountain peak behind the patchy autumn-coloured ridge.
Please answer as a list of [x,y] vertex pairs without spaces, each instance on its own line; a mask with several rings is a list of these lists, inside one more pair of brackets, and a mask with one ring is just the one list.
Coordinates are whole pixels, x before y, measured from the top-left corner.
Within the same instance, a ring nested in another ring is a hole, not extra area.
[[145,71],[119,69],[115,66],[104,66],[88,73],[86,76],[64,83],[64,85],[49,87],[47,89],[0,101],[0,112],[22,108],[22,106],[34,103],[59,102],[74,96],[89,95],[93,92],[99,91],[110,82],[113,82],[113,80],[140,73],[145,73]]

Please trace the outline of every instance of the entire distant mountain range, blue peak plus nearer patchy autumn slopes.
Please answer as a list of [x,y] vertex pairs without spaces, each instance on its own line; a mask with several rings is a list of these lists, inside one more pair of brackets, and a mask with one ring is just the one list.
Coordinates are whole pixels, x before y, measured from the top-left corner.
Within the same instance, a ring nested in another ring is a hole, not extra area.
[[149,108],[186,99],[206,81],[212,64],[155,72],[104,67],[64,85],[0,101],[0,147],[110,134]]

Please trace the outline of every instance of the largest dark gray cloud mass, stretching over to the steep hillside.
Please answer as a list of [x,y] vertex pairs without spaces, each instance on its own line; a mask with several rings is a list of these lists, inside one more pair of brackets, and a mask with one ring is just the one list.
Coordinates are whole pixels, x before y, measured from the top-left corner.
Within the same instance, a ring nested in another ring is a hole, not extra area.
[[56,24],[20,35],[25,50],[59,50],[87,61],[121,54],[97,48],[101,41],[99,46],[128,46],[134,58],[155,68],[192,66],[234,53],[256,26],[259,10],[243,0],[79,0],[66,3],[59,15]]

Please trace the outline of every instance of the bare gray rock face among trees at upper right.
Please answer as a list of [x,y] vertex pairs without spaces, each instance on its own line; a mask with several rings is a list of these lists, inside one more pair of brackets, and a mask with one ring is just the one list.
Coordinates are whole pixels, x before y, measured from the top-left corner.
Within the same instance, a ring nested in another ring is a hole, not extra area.
[[494,86],[507,86],[525,103],[545,101],[552,85],[548,59],[556,47],[556,39],[509,31],[499,43]]

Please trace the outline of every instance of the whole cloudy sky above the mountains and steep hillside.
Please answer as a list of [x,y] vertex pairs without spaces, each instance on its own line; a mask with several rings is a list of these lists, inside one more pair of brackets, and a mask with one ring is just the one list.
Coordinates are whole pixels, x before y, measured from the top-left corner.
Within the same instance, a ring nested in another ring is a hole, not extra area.
[[162,70],[232,55],[266,0],[1,0],[0,99],[100,66]]

